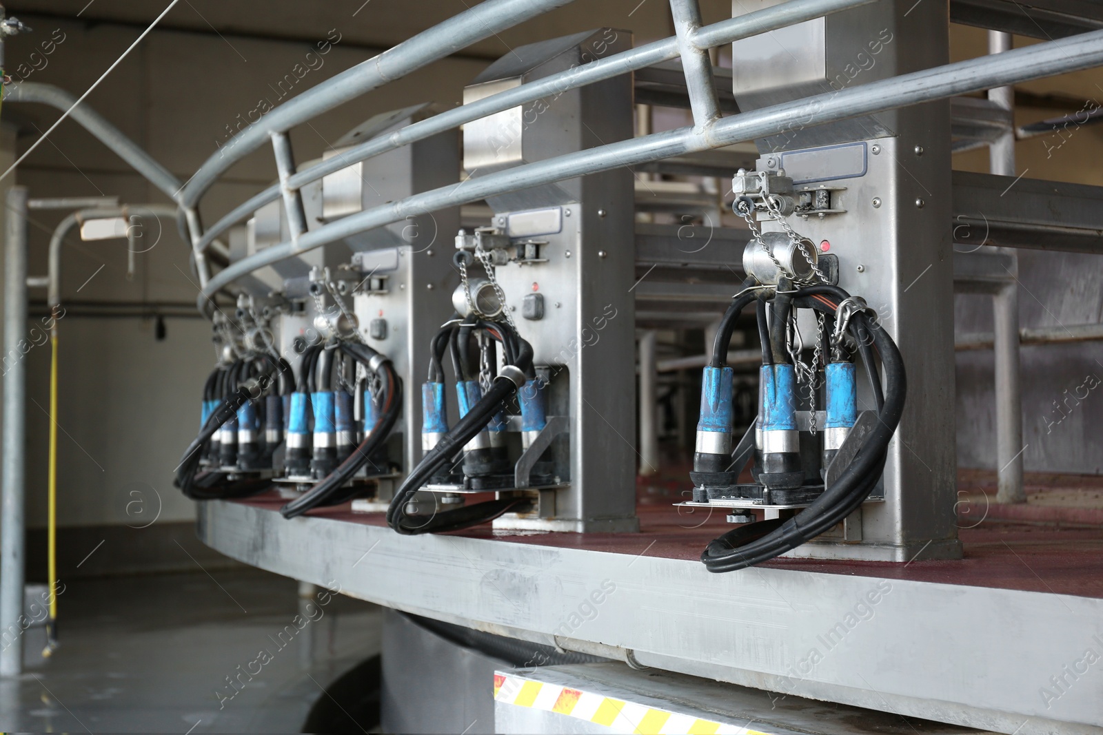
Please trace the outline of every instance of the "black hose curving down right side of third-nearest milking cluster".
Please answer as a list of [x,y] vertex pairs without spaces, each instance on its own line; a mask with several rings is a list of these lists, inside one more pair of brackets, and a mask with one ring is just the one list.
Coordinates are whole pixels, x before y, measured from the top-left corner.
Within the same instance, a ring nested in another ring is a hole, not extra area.
[[[371,347],[354,343],[342,343],[341,350],[363,364],[364,367],[370,367],[372,360],[379,356]],[[312,508],[344,502],[355,494],[355,488],[344,487],[345,483],[360,472],[360,468],[367,464],[372,455],[387,441],[403,407],[403,381],[395,372],[390,360],[384,358],[376,368],[376,372],[381,374],[383,381],[383,411],[376,420],[371,435],[361,442],[360,446],[353,450],[352,454],[324,479],[319,480],[303,496],[280,508],[280,514],[285,518],[301,516]]]

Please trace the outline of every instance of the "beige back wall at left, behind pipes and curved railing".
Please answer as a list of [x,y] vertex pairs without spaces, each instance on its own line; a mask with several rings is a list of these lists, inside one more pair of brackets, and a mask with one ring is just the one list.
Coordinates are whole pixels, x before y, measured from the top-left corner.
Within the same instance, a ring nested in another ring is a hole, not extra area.
[[[30,54],[38,52],[42,68],[26,80],[55,84],[76,95],[95,83],[140,33],[133,26],[36,18],[33,12],[20,12],[20,17],[34,33],[9,42],[8,68],[19,69],[23,63],[30,68]],[[50,37],[63,40],[43,65],[39,44]],[[338,37],[339,32],[331,35]],[[217,151],[216,143],[227,137],[226,126],[234,126],[238,115],[244,118],[261,99],[282,101],[280,80],[293,74],[297,64],[300,69],[309,68],[309,44],[299,42],[154,31],[93,91],[88,104],[184,181]],[[371,55],[372,50],[342,46],[338,41],[324,56],[310,60],[314,68],[296,83],[292,94]],[[365,118],[411,100],[459,102],[463,84],[484,65],[479,60],[450,60],[345,105],[292,132],[297,158],[318,158],[329,141]],[[283,88],[288,86],[285,83]],[[20,152],[58,116],[57,110],[39,105],[3,106],[4,119],[19,125]],[[204,220],[214,221],[274,176],[267,150],[249,156],[207,195]],[[72,121],[64,121],[31,153],[19,169],[19,182],[30,187],[32,197],[117,195],[128,203],[168,202]],[[9,183],[6,180],[2,185]],[[31,273],[45,273],[50,233],[64,214],[32,213]],[[82,242],[74,235],[66,241],[63,301],[74,305],[60,324],[62,527],[139,526],[158,509],[161,522],[194,517],[193,504],[171,480],[196,431],[203,381],[214,364],[208,323],[170,318],[165,338],[159,342],[152,320],[82,318],[75,305],[88,301],[194,303],[197,282],[175,223],[150,223],[143,235],[144,246],[152,248],[138,256],[132,281],[126,279],[124,240]],[[32,299],[43,300],[44,293],[33,292]],[[28,519],[29,525],[41,526],[45,522],[49,345],[35,347],[26,359]]]

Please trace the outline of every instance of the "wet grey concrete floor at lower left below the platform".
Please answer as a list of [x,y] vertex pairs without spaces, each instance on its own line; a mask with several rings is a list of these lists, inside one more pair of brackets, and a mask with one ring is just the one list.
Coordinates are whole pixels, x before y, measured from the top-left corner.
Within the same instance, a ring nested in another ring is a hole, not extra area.
[[295,581],[248,569],[73,581],[61,647],[0,681],[0,729],[301,732],[323,687],[379,652],[377,607],[318,592],[302,607]]

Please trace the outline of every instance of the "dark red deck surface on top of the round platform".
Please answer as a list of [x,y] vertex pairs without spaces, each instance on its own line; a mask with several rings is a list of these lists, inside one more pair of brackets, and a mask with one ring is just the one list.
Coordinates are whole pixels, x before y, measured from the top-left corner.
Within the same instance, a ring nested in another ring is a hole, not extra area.
[[[960,538],[965,550],[965,558],[960,561],[889,563],[778,559],[767,565],[824,574],[882,576],[1103,598],[1103,523],[1091,523],[1093,512],[1081,516],[1071,514],[1078,522],[1070,525],[1068,519],[1050,518],[1052,514],[1046,508],[1051,506],[1045,502],[996,506],[990,499],[994,498],[994,490],[990,496],[986,493],[990,488],[984,484],[984,477],[982,474],[972,479],[961,478],[962,491],[970,495],[963,496],[959,505],[962,527]],[[1089,495],[1086,505],[1092,505],[1093,488],[1103,487],[1103,482],[1099,478],[1077,483],[1068,480],[1070,476],[1046,477],[1041,480],[1038,476],[1028,477],[1028,486],[1034,488],[1031,494],[1037,495],[1047,488],[1067,491],[1070,488],[1085,487]],[[460,536],[510,543],[697,560],[705,545],[730,526],[724,520],[722,512],[709,514],[707,509],[688,512],[687,509],[673,507],[671,504],[677,501],[682,490],[678,484],[673,479],[646,484],[641,480],[639,533],[492,533],[489,526],[483,526],[463,531]],[[240,502],[276,512],[285,501],[271,494]],[[1041,510],[1031,515],[1031,507]],[[1007,511],[1007,508],[1013,510]],[[984,509],[987,512],[982,514]],[[347,505],[312,511],[310,515],[342,522],[385,525],[383,514],[354,514]]]

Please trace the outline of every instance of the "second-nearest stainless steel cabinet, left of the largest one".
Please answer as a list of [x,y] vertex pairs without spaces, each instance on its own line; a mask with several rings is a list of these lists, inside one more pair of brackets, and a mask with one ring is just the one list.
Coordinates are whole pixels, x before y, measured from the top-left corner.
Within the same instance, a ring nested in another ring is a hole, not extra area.
[[[614,29],[553,39],[507,54],[476,78],[478,87],[494,84],[495,75],[511,84],[539,78],[630,45],[631,34]],[[525,106],[524,115],[525,162],[624,140],[632,137],[630,79],[568,90]],[[550,413],[570,420],[569,433],[553,444],[570,483],[556,491],[555,518],[510,515],[495,526],[635,530],[635,390],[624,380],[635,371],[632,174],[617,169],[488,204],[495,227],[543,242],[543,262],[502,266],[495,275],[534,361],[552,368]],[[544,296],[539,321],[520,318],[532,293]]]

